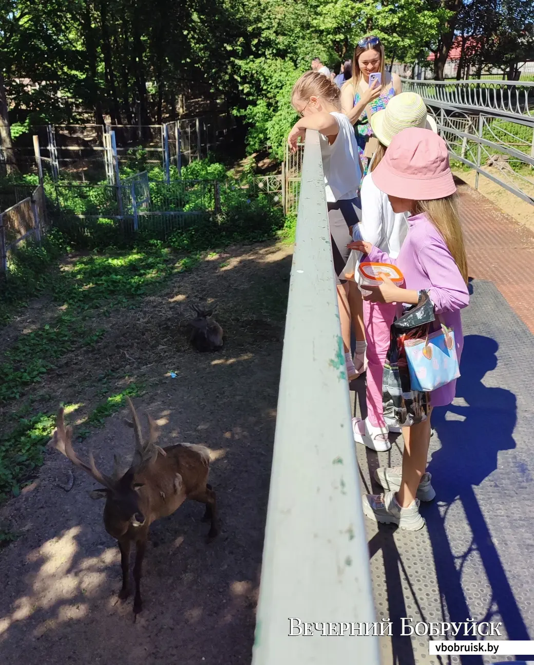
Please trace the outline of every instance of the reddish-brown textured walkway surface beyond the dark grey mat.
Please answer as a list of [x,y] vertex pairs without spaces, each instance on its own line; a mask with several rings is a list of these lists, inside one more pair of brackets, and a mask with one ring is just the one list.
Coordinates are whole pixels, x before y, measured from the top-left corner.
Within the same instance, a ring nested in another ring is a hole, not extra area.
[[534,334],[534,233],[468,185],[458,194],[469,276],[493,282]]

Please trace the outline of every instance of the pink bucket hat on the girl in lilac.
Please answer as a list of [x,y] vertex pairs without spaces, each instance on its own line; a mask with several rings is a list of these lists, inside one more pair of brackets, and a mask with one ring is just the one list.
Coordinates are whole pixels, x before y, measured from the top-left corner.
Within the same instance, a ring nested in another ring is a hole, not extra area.
[[428,201],[456,192],[447,144],[438,134],[418,127],[393,137],[371,178],[379,190],[401,199]]

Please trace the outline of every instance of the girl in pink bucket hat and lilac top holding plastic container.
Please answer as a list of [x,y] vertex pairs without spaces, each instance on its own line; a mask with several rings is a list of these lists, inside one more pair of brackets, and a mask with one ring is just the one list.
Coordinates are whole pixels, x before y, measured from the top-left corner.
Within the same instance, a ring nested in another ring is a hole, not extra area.
[[[460,310],[469,303],[468,268],[462,229],[456,211],[446,143],[428,129],[402,130],[393,138],[387,152],[373,171],[375,185],[388,195],[395,213],[408,212],[408,233],[396,259],[356,241],[351,249],[363,252],[373,263],[393,263],[404,275],[403,288],[383,278],[379,286],[365,289],[371,303],[416,305],[420,291],[428,292],[434,313],[444,325],[454,329],[458,360],[463,346]],[[446,406],[454,399],[456,381],[430,393],[430,408]],[[381,495],[364,495],[367,517],[401,529],[417,531],[424,526],[419,501],[431,501],[436,493],[426,473],[430,444],[430,412],[426,420],[402,428],[404,454],[402,468],[383,467],[375,478],[385,489]],[[418,500],[417,500],[418,499]]]

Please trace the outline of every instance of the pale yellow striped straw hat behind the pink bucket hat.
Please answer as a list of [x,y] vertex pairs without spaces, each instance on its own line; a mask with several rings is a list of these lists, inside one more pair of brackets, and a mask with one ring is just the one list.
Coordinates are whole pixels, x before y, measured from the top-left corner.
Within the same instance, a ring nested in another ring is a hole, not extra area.
[[437,134],[434,118],[426,113],[426,106],[420,94],[401,92],[389,100],[385,109],[371,115],[371,129],[377,139],[389,146],[394,136],[403,129],[419,127],[430,129]]

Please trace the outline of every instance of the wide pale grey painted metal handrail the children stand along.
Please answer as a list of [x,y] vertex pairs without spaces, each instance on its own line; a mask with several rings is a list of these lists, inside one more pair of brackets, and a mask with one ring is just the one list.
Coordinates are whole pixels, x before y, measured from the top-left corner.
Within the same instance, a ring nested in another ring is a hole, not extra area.
[[290,618],[371,622],[369,552],[317,132],[308,130],[253,665],[378,665],[378,639],[289,636]]

